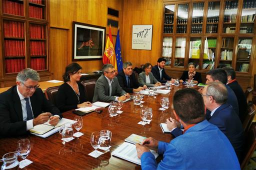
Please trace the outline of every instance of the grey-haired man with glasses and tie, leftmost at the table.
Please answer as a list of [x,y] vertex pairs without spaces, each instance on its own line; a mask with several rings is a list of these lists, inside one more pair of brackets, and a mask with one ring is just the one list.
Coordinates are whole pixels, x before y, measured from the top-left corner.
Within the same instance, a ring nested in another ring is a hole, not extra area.
[[0,137],[26,134],[48,119],[52,125],[58,123],[61,113],[38,88],[39,79],[35,70],[25,68],[17,74],[15,86],[0,93]]

